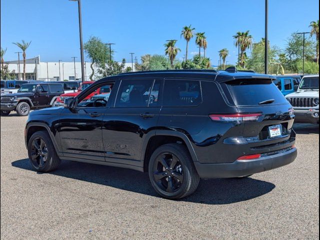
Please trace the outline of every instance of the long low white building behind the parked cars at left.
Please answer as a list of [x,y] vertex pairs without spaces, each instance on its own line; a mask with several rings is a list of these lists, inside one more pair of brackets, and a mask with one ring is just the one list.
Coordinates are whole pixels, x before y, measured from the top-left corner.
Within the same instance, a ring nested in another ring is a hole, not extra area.
[[[8,68],[10,71],[14,70],[16,73],[16,79],[22,80],[23,76],[23,60],[20,59],[20,64],[18,60],[16,61],[5,61],[5,64],[8,64]],[[120,63],[120,62],[119,62]],[[91,62],[84,63],[84,80],[89,80],[89,76],[92,73]],[[125,63],[126,67],[132,67],[131,63]],[[20,67],[20,70],[18,70]],[[94,74],[96,74],[96,67],[93,66]],[[133,64],[134,70],[134,64]],[[20,72],[18,76],[18,72]],[[49,81],[57,81],[57,80],[81,80],[81,62],[76,61],[60,61],[60,62],[41,62],[40,56],[26,59],[25,64],[25,78],[33,79],[33,80],[49,80]],[[95,76],[93,76],[95,79]]]

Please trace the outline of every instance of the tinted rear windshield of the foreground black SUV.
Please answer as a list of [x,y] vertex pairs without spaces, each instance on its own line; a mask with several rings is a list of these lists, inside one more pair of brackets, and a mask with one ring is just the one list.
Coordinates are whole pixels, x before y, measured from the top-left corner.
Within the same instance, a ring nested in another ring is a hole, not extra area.
[[236,79],[225,83],[235,105],[258,105],[274,99],[274,103],[285,103],[286,99],[270,79]]

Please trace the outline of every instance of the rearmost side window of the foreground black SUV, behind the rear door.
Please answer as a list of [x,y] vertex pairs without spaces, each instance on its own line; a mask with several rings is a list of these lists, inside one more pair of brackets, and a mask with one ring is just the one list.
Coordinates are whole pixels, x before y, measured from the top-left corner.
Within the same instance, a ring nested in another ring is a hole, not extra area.
[[163,106],[196,106],[201,103],[201,85],[198,80],[166,79],[163,88]]

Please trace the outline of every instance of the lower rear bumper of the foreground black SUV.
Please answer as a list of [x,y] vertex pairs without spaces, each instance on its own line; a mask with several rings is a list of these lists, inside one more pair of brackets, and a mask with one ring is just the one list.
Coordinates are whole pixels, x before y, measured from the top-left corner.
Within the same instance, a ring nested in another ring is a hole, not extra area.
[[294,161],[296,155],[296,148],[292,148],[282,153],[253,160],[236,160],[232,163],[194,162],[194,165],[201,178],[240,177],[287,165]]

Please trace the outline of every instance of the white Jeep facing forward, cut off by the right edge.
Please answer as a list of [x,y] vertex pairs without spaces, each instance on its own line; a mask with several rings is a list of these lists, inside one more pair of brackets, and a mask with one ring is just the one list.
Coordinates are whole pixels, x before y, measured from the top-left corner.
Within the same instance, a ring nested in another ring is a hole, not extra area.
[[319,123],[319,75],[303,76],[297,91],[285,98],[293,107],[294,122]]

